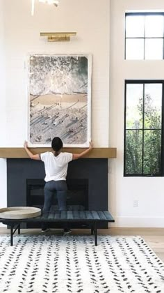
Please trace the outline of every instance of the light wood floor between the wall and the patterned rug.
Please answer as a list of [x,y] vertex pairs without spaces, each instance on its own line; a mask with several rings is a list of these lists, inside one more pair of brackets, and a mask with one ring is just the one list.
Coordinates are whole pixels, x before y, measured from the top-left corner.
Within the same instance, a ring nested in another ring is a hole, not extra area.
[[[10,230],[0,227],[0,235],[9,233]],[[48,233],[60,234],[61,230],[51,230],[51,232]],[[41,232],[38,229],[22,229],[21,234],[41,234]],[[90,230],[72,230],[72,234],[90,234]],[[98,230],[98,234],[142,236],[152,250],[154,250],[156,255],[158,255],[158,257],[164,262],[164,228],[109,228]]]

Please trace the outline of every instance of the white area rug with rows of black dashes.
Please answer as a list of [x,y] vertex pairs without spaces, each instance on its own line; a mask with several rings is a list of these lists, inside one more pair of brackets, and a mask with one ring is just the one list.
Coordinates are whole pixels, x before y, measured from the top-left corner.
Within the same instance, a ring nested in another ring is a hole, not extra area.
[[164,264],[139,236],[0,236],[0,292],[163,293]]

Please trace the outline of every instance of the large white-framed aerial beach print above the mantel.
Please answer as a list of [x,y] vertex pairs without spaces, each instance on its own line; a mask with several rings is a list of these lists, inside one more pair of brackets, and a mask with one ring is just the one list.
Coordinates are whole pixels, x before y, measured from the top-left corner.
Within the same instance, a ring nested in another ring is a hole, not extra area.
[[91,55],[28,56],[28,145],[88,147],[91,139]]

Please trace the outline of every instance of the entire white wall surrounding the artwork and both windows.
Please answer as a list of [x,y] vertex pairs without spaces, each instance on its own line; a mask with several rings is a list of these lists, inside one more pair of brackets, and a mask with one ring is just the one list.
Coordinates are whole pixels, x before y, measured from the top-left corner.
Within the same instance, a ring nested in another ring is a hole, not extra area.
[[[164,179],[123,177],[124,80],[163,79],[164,72],[164,61],[124,61],[124,13],[164,10],[163,0],[60,0],[57,9],[35,2],[31,17],[30,0],[0,0],[0,60],[6,59],[6,66],[0,66],[0,123],[6,120],[0,128],[0,147],[22,147],[24,142],[26,54],[91,53],[92,139],[95,147],[117,147],[117,159],[109,160],[109,206],[115,225],[164,227]],[[68,43],[47,43],[40,31],[76,31],[77,36]],[[0,160],[0,191],[3,206],[6,160]]]

